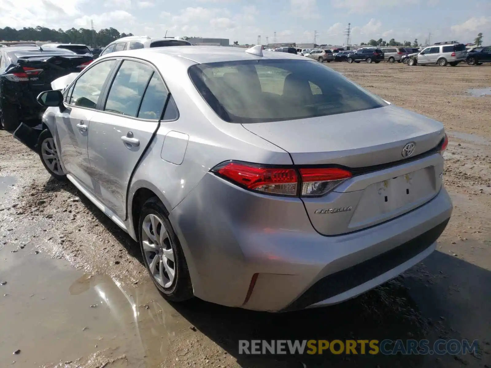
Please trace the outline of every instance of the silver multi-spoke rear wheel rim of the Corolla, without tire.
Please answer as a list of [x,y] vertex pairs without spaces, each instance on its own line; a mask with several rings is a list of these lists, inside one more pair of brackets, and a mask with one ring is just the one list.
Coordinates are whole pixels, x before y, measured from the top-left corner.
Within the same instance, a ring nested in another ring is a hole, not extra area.
[[164,221],[157,215],[148,214],[143,219],[141,241],[150,274],[163,288],[170,288],[176,276],[174,248]]

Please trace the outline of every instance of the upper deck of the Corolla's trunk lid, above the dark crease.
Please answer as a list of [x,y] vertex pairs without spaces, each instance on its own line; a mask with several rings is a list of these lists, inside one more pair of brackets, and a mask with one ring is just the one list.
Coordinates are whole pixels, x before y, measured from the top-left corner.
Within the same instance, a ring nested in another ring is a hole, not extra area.
[[296,165],[338,164],[350,168],[404,159],[436,147],[443,125],[394,105],[290,121],[243,124],[252,133],[281,147]]

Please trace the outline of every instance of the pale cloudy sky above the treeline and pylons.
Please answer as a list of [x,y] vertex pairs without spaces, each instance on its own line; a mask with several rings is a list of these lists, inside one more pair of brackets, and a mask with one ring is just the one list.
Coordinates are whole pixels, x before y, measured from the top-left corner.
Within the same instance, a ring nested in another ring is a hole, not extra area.
[[0,27],[46,26],[162,37],[228,38],[343,45],[351,23],[351,44],[386,41],[473,42],[479,32],[491,45],[490,0],[1,0]]

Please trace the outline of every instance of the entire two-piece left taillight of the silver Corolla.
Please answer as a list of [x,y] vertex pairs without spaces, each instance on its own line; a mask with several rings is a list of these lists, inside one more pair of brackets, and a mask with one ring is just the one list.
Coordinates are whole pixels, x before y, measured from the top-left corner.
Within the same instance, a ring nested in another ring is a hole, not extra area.
[[[247,162],[227,161],[211,170],[246,189],[284,196],[325,195],[352,174],[340,168],[270,167]],[[300,190],[299,190],[300,188]]]

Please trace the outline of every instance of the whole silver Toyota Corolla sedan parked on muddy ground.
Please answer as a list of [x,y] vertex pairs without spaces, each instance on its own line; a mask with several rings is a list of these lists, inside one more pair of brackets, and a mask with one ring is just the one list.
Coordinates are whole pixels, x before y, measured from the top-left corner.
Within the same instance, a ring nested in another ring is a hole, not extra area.
[[302,56],[110,53],[38,101],[43,164],[139,242],[169,300],[338,303],[430,255],[452,212],[442,124]]

